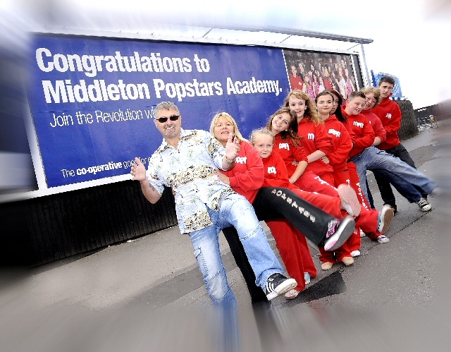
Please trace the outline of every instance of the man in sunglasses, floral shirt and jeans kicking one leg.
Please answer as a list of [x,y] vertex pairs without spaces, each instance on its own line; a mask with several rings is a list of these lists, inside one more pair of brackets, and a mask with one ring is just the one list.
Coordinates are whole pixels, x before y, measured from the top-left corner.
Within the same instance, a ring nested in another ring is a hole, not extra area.
[[183,130],[182,116],[172,102],[161,102],[155,112],[163,142],[152,154],[147,172],[140,159],[135,159],[131,174],[151,203],[161,198],[163,186],[173,189],[180,232],[190,236],[212,303],[236,306],[218,243],[219,232],[228,226],[237,229],[256,283],[268,300],[297,286],[295,279],[283,276],[252,205],[215,174],[217,169],[233,167],[239,142],[233,142],[230,135],[224,148],[209,132]]

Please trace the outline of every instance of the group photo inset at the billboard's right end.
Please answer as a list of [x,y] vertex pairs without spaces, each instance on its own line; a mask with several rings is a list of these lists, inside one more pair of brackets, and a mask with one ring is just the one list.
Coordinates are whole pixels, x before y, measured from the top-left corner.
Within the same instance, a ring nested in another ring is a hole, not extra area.
[[314,51],[283,50],[290,87],[311,99],[326,89],[335,89],[343,99],[358,90],[351,56]]

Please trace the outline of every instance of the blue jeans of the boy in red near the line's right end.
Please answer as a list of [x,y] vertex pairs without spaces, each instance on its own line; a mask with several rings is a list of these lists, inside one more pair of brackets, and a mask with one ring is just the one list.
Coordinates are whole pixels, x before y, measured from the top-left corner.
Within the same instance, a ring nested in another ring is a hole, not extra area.
[[368,197],[366,190],[366,170],[379,170],[388,181],[395,186],[400,193],[410,202],[416,202],[422,197],[417,186],[426,193],[431,194],[437,183],[432,178],[422,174],[420,171],[403,162],[400,158],[388,154],[384,150],[378,150],[376,147],[368,147],[360,154],[352,157],[352,162],[357,166],[359,174],[360,187]]

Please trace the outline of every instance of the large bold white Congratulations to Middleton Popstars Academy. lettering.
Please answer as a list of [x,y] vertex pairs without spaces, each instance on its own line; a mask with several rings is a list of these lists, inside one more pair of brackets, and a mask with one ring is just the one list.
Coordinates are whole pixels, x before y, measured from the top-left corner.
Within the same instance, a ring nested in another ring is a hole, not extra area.
[[[99,72],[143,72],[143,73],[208,73],[210,63],[207,59],[194,54],[192,60],[187,57],[166,57],[161,53],[148,56],[134,51],[132,56],[123,56],[121,51],[114,55],[78,55],[54,54],[49,49],[40,47],[36,50],[36,62],[39,69],[49,73],[82,72],[87,79],[73,81],[42,80],[42,89],[47,104],[106,102],[109,100],[137,100],[177,98],[179,102],[189,97],[211,97],[223,95],[223,83],[218,81],[202,82],[193,78],[189,82],[168,83],[161,78],[149,78],[148,82],[126,82],[119,79],[109,82],[106,79],[94,79]],[[194,62],[194,63],[193,63]],[[149,88],[150,86],[150,88]],[[273,93],[282,91],[278,80],[259,80],[255,77],[247,80],[226,78],[228,95]],[[153,88],[153,94],[151,94]]]

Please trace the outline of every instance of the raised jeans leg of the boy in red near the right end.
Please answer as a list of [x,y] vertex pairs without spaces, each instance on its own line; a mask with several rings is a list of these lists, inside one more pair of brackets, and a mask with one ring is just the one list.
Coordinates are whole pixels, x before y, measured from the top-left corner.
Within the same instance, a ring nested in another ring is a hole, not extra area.
[[[390,173],[400,176],[404,181],[420,187],[428,194],[431,194],[434,188],[437,187],[437,183],[432,178],[403,162],[400,158],[375,147],[369,147],[367,150],[371,150],[372,154],[371,161],[368,163],[369,170],[385,169],[390,171]],[[376,150],[376,152],[373,152],[373,150]]]

